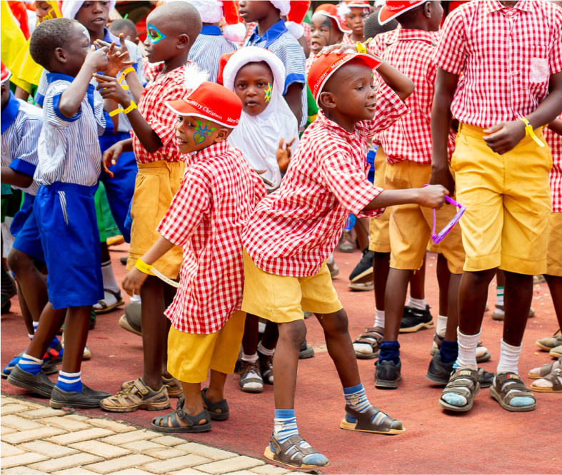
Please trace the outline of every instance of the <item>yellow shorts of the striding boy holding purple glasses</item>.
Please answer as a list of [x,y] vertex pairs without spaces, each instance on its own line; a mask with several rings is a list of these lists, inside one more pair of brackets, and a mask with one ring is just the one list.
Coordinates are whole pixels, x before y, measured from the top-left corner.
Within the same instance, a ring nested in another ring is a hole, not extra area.
[[244,250],[244,312],[287,323],[303,320],[303,311],[326,314],[342,308],[326,262],[311,277],[288,277],[259,269]]

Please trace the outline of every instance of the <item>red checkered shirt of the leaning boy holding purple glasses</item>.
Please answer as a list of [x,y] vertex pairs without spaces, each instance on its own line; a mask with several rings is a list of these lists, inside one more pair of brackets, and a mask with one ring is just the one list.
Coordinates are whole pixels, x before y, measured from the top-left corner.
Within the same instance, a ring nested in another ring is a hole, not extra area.
[[244,229],[242,242],[257,267],[292,277],[316,275],[335,249],[343,226],[383,190],[366,178],[368,138],[408,112],[391,88],[377,92],[375,117],[353,133],[318,112],[303,133],[281,188],[261,200]]

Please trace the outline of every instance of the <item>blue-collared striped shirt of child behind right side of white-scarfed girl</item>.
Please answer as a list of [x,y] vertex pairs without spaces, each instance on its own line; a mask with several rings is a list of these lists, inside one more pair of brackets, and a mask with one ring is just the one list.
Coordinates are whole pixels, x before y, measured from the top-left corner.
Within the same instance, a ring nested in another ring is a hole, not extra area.
[[275,53],[283,64],[285,65],[285,89],[283,95],[287,92],[288,86],[292,83],[302,83],[302,119],[300,127],[304,127],[307,120],[308,106],[306,103],[306,78],[304,75],[304,64],[306,57],[304,56],[303,48],[295,37],[286,29],[285,22],[279,20],[274,26],[264,33],[264,36],[259,36],[258,29],[246,39],[244,46],[261,46],[267,48]]

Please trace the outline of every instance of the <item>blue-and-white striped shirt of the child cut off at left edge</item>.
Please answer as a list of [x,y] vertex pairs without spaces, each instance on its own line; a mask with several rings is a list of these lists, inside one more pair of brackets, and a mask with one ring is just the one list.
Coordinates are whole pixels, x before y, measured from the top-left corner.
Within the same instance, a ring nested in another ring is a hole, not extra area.
[[[43,126],[41,109],[17,99],[10,93],[10,100],[2,111],[1,118],[2,166],[33,176],[39,162],[37,141]],[[38,188],[39,184],[33,182],[29,188],[19,189],[35,196]]]

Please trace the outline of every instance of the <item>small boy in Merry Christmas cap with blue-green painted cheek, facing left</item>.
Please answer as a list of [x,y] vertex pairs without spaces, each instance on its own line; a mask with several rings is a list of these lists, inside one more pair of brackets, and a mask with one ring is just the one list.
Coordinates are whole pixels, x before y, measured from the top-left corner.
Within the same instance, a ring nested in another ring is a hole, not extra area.
[[[186,81],[196,81],[194,74]],[[151,270],[158,271],[161,257],[175,246],[183,247],[179,292],[166,315],[172,325],[168,369],[181,381],[184,396],[176,411],[153,420],[152,429],[206,432],[211,419],[229,418],[224,383],[234,372],[246,318],[240,312],[242,230],[266,189],[227,140],[242,111],[234,92],[204,82],[166,106],[179,116],[176,143],[181,153],[191,154],[189,166],[158,227],[161,236],[136,261],[123,288],[129,295],[139,292]],[[209,388],[201,391],[209,369]]]

